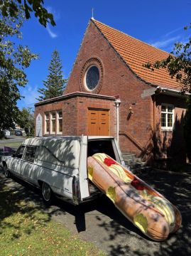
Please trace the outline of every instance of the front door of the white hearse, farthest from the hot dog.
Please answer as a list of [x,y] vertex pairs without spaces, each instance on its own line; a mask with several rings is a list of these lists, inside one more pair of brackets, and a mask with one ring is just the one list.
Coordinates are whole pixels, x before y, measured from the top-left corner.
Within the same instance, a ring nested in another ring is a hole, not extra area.
[[23,159],[23,154],[25,151],[25,145],[21,145],[18,150],[16,151],[16,156],[12,159],[11,165],[10,165],[10,170],[13,172],[13,174],[16,174],[20,176],[21,174],[21,166],[22,166],[22,159]]

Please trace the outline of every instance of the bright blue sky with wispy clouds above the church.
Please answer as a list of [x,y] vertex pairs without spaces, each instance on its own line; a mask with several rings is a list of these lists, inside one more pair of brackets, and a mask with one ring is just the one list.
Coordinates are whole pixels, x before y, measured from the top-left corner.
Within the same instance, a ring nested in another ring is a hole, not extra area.
[[33,107],[38,88],[48,75],[53,50],[60,53],[65,78],[70,75],[80,43],[92,17],[146,43],[170,52],[175,42],[185,42],[190,31],[191,0],[44,0],[45,8],[54,14],[56,26],[44,28],[36,18],[23,28],[22,45],[28,46],[39,59],[26,69],[28,84],[21,88],[24,96],[18,107]]

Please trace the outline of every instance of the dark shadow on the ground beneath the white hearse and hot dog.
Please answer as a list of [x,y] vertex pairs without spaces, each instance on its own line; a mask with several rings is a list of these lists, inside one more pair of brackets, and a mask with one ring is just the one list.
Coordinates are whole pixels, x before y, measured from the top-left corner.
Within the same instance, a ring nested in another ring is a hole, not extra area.
[[[66,213],[70,213],[75,216],[75,225],[77,231],[80,233],[86,230],[86,222],[85,222],[85,214],[90,213],[93,210],[99,211],[103,215],[109,216],[109,218],[113,219],[111,223],[113,228],[116,228],[117,233],[121,235],[122,233],[127,233],[128,230],[133,233],[137,233],[141,237],[143,234],[129,221],[126,221],[124,215],[122,215],[119,210],[117,210],[113,203],[109,201],[106,196],[102,196],[101,198],[97,198],[94,202],[84,203],[80,206],[72,206],[70,203],[66,203],[61,201],[58,198],[55,198],[54,206],[47,206],[43,202],[40,189],[31,186],[25,181],[21,181],[19,178],[12,176],[12,179],[7,179],[1,173],[0,179],[0,200],[1,200],[1,215],[0,222],[3,223],[4,218],[13,215],[14,213],[22,213],[26,214],[26,218],[33,218],[33,215],[42,210],[48,215],[48,218],[45,221],[49,221],[50,218],[55,215],[65,215]],[[13,182],[16,181],[16,182]],[[21,186],[19,186],[21,185]],[[9,191],[7,190],[9,188]],[[20,204],[26,201],[26,206],[20,206]],[[33,202],[32,205],[29,202]],[[100,215],[96,216],[99,226],[105,229],[109,229],[107,223],[102,223],[102,217]],[[5,225],[5,223],[4,223]],[[6,222],[6,226],[8,227],[10,223]],[[119,228],[121,225],[123,228]],[[10,225],[11,228],[11,225]],[[18,228],[18,225],[14,226],[15,229]],[[33,230],[34,227],[28,227],[28,233]],[[14,238],[18,238],[17,235]],[[114,239],[111,234],[111,240]]]

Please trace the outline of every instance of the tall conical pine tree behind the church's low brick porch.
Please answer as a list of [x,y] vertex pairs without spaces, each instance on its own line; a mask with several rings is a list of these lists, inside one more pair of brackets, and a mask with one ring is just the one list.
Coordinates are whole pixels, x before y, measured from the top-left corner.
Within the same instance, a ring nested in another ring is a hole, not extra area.
[[41,94],[37,100],[48,100],[63,94],[66,79],[63,79],[62,63],[58,50],[54,50],[49,65],[49,75],[43,81],[44,88],[40,88],[38,92]]

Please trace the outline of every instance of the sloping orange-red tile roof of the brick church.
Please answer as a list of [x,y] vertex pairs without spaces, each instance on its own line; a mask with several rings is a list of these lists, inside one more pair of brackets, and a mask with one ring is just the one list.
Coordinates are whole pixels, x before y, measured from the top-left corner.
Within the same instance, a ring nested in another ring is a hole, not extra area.
[[92,19],[99,31],[107,38],[107,41],[121,56],[125,63],[136,73],[139,78],[153,85],[160,85],[176,90],[180,90],[180,84],[168,75],[167,70],[160,68],[153,72],[144,68],[144,63],[154,63],[156,60],[163,60],[168,57],[169,53],[150,46],[136,38],[111,28],[104,23]]

